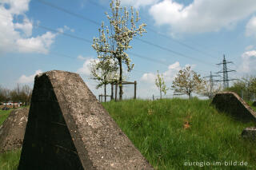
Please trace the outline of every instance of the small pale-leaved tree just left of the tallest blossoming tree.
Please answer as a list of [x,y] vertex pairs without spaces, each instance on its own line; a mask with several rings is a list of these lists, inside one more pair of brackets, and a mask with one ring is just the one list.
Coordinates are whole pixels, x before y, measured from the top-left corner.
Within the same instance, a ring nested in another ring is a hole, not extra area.
[[96,89],[104,85],[104,94],[106,102],[106,85],[116,82],[118,80],[118,68],[114,65],[113,61],[98,61],[94,60],[90,62],[90,73],[94,80],[98,81]]

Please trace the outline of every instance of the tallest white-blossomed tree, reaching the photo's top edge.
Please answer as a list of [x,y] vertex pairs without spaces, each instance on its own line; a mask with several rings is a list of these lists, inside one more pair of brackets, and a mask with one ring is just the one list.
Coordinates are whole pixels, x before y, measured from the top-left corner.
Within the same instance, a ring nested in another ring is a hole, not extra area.
[[126,65],[128,72],[134,68],[131,64],[130,57],[125,52],[131,49],[131,40],[138,34],[142,36],[146,33],[146,24],[136,26],[139,19],[138,11],[134,14],[133,7],[130,12],[126,7],[120,6],[120,0],[112,0],[110,2],[110,15],[106,13],[110,24],[105,26],[102,22],[101,28],[98,29],[99,36],[94,38],[92,47],[96,50],[98,58],[103,61],[113,60],[115,65],[118,65],[119,76],[119,99],[122,100],[122,81],[123,81],[123,63]]

